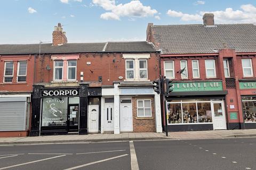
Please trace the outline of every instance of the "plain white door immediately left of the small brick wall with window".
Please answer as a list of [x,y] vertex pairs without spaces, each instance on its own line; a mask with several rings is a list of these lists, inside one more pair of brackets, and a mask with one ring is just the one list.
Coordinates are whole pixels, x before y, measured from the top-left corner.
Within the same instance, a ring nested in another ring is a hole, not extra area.
[[132,105],[120,105],[120,131],[132,131]]

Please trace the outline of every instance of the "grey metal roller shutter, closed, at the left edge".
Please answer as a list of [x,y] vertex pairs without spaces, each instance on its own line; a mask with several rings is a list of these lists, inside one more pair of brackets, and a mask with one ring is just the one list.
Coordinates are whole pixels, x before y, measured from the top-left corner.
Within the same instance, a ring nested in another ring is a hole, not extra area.
[[0,102],[0,131],[25,130],[26,101]]

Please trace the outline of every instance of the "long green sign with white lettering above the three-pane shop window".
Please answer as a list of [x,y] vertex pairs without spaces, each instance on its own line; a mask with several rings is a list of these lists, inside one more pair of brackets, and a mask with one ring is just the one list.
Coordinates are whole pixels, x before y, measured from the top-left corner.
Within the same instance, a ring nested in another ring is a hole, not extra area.
[[221,81],[173,83],[173,91],[219,91],[223,90]]

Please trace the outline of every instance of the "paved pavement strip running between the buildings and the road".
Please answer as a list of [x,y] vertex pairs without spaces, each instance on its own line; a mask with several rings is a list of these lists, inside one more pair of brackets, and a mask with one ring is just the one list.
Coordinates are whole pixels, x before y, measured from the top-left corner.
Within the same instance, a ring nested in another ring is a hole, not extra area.
[[256,137],[256,129],[246,130],[215,130],[188,131],[165,133],[121,133],[121,134],[88,134],[88,135],[47,135],[40,137],[0,138],[0,145],[23,143],[65,143],[65,142],[100,142],[100,141],[131,141],[131,140],[181,140],[181,139],[219,139]]

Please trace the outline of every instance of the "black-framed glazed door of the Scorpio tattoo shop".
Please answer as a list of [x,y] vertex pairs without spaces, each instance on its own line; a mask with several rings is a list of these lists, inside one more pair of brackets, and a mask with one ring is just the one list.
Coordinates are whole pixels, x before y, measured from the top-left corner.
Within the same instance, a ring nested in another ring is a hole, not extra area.
[[78,131],[79,106],[78,105],[69,105],[68,107],[69,107],[69,109],[68,109],[68,131],[76,132],[76,131]]

